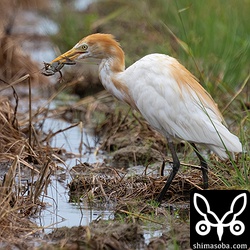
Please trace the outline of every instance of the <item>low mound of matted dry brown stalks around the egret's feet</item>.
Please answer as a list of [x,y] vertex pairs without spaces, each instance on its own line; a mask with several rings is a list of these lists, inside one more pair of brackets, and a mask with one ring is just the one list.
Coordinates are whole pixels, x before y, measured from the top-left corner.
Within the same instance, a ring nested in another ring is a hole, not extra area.
[[[154,199],[167,179],[166,177],[145,176],[144,174],[125,175],[121,178],[120,175],[115,174],[115,170],[109,173],[102,171],[103,168],[100,168],[99,170],[95,169],[92,173],[78,174],[78,177],[73,179],[69,185],[71,195],[82,197],[92,190],[96,200],[122,202],[131,199]],[[184,175],[177,176],[166,197],[170,203],[189,200],[189,191],[201,184],[201,176],[197,175],[197,171],[190,170],[190,172],[192,181]]]

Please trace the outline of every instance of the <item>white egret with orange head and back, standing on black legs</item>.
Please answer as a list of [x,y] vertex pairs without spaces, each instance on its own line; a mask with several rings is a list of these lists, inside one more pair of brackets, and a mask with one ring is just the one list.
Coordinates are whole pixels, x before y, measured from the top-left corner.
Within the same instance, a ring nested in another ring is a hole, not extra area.
[[110,34],[92,34],[51,62],[59,65],[95,60],[103,86],[119,100],[138,110],[167,139],[173,169],[157,200],[162,201],[180,162],[173,139],[191,143],[197,154],[204,188],[208,187],[207,163],[195,143],[206,145],[221,159],[242,152],[237,136],[223,125],[223,117],[209,93],[175,58],[147,55],[125,70],[124,52]]

